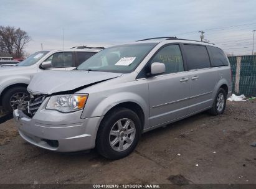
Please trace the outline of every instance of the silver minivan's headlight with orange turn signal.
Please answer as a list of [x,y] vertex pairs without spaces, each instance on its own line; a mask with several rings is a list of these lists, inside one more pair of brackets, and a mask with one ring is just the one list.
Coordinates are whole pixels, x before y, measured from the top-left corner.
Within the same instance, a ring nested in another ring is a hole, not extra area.
[[46,109],[55,109],[63,113],[77,111],[85,107],[88,94],[64,94],[51,96]]

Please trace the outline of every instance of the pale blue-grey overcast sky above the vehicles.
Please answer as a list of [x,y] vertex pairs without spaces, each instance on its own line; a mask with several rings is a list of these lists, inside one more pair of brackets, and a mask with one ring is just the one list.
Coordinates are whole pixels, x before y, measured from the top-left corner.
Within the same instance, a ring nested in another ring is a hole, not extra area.
[[[41,43],[44,49],[63,48],[63,29],[65,48],[166,35],[199,40],[198,30],[206,30],[205,38],[227,52],[248,53],[256,29],[255,7],[255,0],[1,0],[0,25],[25,30],[32,37],[29,53],[40,50]],[[230,49],[233,43],[239,45]]]

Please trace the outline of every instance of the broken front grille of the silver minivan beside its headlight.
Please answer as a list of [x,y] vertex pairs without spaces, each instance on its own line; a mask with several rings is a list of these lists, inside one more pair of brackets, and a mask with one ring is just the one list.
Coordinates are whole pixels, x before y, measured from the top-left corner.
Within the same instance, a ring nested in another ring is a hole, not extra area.
[[31,100],[29,101],[29,104],[27,106],[27,115],[29,117],[33,117],[34,114],[36,114],[37,109],[41,106],[45,99],[46,95],[37,94],[32,96]]

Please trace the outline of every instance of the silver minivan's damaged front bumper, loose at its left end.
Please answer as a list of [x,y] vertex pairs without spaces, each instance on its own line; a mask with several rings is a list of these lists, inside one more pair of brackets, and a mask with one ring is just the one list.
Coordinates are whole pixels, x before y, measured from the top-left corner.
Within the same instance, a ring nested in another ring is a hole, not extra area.
[[47,150],[75,152],[93,149],[98,126],[103,117],[81,119],[81,111],[60,113],[39,109],[30,118],[21,110],[14,110],[19,134],[27,142]]

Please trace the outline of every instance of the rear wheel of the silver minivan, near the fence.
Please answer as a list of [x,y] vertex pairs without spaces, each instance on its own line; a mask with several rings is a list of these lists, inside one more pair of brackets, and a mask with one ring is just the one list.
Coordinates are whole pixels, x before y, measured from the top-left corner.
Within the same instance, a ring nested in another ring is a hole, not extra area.
[[212,104],[212,108],[209,109],[209,113],[213,116],[223,114],[225,111],[226,100],[227,94],[225,93],[225,90],[223,88],[219,88],[216,98],[214,99],[214,103]]

